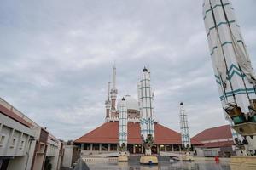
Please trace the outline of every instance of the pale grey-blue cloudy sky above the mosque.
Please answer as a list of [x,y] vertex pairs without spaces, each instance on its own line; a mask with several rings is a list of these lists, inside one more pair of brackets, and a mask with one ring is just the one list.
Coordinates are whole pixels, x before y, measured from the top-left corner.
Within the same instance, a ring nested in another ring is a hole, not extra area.
[[[256,67],[256,1],[233,0]],[[137,97],[151,71],[155,115],[179,130],[183,101],[191,135],[223,125],[201,0],[3,0],[0,97],[60,139],[104,122],[107,82],[117,65],[119,98]]]

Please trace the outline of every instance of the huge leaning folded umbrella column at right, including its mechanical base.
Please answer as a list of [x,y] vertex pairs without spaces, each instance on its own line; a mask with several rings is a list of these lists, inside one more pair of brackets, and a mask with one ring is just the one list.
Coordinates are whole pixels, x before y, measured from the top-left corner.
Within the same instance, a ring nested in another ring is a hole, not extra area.
[[[256,154],[256,74],[229,0],[205,0],[203,19],[224,115],[240,133],[243,154]],[[252,150],[254,150],[252,152]]]

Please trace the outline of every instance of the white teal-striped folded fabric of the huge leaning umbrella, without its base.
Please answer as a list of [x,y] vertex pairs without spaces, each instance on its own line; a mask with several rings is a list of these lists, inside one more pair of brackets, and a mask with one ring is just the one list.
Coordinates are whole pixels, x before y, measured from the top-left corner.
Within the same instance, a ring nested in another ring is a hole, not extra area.
[[235,103],[247,119],[250,100],[256,99],[255,73],[232,8],[228,0],[206,0],[203,14],[222,105]]

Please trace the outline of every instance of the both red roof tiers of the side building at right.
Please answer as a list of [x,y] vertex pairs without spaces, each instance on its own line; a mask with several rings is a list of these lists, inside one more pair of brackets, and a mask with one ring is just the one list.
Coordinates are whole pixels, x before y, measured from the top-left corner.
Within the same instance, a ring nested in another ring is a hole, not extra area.
[[[194,139],[201,142],[209,141],[207,143],[204,143],[204,145],[201,146],[205,148],[217,148],[217,147],[231,146],[234,144],[232,140],[230,125],[208,128],[202,131],[201,133],[196,134]],[[221,139],[222,140],[226,139],[227,141],[221,141]]]

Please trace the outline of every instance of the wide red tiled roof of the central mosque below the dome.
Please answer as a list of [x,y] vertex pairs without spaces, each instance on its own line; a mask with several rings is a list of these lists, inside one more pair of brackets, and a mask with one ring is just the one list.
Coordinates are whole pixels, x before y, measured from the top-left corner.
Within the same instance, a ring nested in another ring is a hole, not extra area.
[[[75,143],[118,143],[118,122],[105,122],[90,133],[76,139]],[[181,135],[170,128],[155,123],[155,144],[181,144]],[[192,144],[201,142],[191,139]],[[141,144],[140,125],[138,122],[128,122],[128,144]]]

